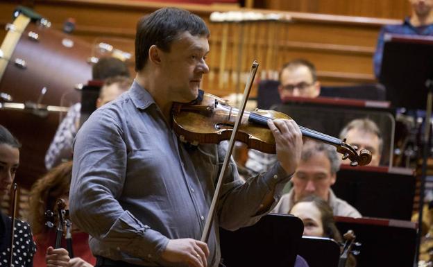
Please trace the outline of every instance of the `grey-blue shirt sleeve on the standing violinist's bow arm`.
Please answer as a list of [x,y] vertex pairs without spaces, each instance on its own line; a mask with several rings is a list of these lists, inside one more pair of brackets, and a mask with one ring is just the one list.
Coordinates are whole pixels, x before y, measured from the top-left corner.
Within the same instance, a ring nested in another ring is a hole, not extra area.
[[115,115],[96,111],[76,136],[71,218],[105,246],[156,261],[169,239],[141,223],[117,200],[124,188],[127,150]]

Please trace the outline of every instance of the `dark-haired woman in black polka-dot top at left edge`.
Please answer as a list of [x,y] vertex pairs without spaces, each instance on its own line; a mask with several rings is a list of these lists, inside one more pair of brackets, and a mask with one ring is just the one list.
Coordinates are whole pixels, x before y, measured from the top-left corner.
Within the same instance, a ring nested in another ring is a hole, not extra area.
[[[19,166],[20,147],[21,144],[8,129],[0,125],[0,201],[10,192]],[[15,239],[11,252],[11,226],[12,218],[0,210],[0,266],[10,266],[10,253],[13,253],[13,266],[33,266],[33,254],[36,248],[30,227],[23,221],[15,220]]]

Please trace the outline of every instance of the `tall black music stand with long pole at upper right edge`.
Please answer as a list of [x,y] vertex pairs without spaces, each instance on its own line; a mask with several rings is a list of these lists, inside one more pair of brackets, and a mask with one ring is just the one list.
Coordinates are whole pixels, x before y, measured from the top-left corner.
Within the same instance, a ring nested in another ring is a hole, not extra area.
[[[380,82],[387,87],[387,99],[396,107],[426,110],[423,136],[423,167],[416,261],[421,243],[421,225],[427,174],[428,140],[432,114],[433,37],[419,35],[385,35]],[[427,101],[426,101],[427,99]]]

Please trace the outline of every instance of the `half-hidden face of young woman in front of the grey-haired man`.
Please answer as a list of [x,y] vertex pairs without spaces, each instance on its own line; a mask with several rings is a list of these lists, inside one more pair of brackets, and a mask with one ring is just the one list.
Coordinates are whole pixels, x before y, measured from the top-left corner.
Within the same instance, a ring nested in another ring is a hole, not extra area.
[[294,214],[303,221],[305,236],[323,237],[321,212],[312,202],[297,203],[291,208],[290,214]]

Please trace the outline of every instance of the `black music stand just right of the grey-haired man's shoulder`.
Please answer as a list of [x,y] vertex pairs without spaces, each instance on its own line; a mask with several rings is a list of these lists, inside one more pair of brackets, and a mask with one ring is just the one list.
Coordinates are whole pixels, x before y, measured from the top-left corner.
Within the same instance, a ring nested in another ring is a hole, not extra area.
[[415,187],[412,169],[343,164],[332,190],[364,217],[410,221]]

